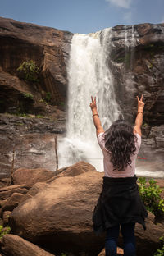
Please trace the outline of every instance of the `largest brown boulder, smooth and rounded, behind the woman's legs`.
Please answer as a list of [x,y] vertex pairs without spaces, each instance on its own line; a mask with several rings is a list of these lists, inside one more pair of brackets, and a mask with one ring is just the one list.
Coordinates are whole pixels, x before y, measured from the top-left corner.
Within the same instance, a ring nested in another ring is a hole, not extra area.
[[[11,231],[54,253],[97,255],[105,238],[93,234],[92,213],[102,184],[103,173],[86,169],[78,176],[59,176],[50,183],[34,185],[30,199],[11,213]],[[136,226],[139,256],[151,255],[159,247],[163,226],[155,225],[153,218],[148,217],[147,231]],[[122,247],[121,239],[119,245]]]

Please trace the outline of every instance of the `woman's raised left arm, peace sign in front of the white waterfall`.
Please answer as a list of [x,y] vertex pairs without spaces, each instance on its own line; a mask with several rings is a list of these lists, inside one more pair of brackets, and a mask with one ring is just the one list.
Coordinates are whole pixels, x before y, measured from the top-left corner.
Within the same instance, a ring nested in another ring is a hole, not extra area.
[[98,111],[97,111],[97,105],[96,105],[96,97],[91,97],[92,103],[90,103],[90,108],[93,113],[93,123],[94,126],[96,127],[96,135],[98,136],[101,132],[104,132],[101,121],[98,116]]

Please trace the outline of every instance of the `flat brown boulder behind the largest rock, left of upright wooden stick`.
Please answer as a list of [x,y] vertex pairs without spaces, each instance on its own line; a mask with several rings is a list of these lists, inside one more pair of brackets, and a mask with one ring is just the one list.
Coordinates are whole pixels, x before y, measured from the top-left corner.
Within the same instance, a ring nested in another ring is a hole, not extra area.
[[37,182],[47,181],[55,176],[54,171],[48,171],[47,169],[17,169],[13,174],[14,185],[26,184],[33,186]]

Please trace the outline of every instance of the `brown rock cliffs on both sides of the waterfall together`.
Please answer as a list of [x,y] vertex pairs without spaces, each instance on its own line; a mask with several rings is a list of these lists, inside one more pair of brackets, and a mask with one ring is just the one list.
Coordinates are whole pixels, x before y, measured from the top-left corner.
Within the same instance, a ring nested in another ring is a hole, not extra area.
[[[13,149],[17,156],[28,151],[28,157],[19,158],[16,168],[32,168],[32,162],[35,162],[35,168],[40,167],[47,142],[54,140],[54,133],[61,134],[66,130],[66,62],[72,35],[0,18],[0,141],[4,145],[0,173],[8,175],[10,172]],[[144,136],[140,156],[147,156],[153,168],[160,162],[158,169],[161,170],[164,163],[164,24],[117,25],[112,28],[109,48],[107,64],[112,68],[116,100],[125,119],[134,122],[134,98],[137,94],[144,94]],[[30,60],[39,67],[38,81],[35,82],[22,80],[17,71],[22,62]],[[6,112],[34,116],[4,117]],[[46,118],[39,120],[34,118],[36,115]],[[44,146],[40,139],[45,140]],[[22,141],[25,141],[24,149]],[[54,144],[49,150],[54,151]],[[48,166],[48,162],[49,158],[43,167],[54,170],[56,163]]]

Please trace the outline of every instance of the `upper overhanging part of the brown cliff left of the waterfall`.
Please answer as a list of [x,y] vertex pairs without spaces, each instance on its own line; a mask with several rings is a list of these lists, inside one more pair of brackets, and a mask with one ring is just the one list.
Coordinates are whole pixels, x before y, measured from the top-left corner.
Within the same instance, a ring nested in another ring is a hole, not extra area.
[[[71,37],[70,32],[0,18],[0,112],[7,112],[9,107],[39,112],[36,103],[47,93],[53,105],[66,102],[66,59]],[[39,67],[39,83],[18,78],[17,68],[30,60]],[[25,103],[25,93],[32,94],[33,100],[26,97]]]

